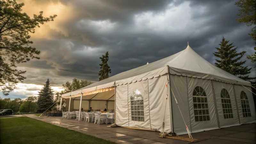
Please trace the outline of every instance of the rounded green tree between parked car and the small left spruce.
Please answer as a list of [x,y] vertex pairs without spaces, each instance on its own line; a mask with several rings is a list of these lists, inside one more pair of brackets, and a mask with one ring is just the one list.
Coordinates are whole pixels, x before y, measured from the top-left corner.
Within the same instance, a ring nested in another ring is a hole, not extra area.
[[37,107],[37,97],[28,97],[26,101],[22,102],[20,112],[36,112]]

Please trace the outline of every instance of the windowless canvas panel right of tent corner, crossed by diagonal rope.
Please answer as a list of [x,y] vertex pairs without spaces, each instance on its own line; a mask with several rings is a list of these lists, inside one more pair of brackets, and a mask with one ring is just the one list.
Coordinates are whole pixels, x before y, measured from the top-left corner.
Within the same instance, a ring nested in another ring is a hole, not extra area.
[[[186,125],[183,122],[182,116],[191,132],[190,126],[190,113],[188,107],[188,90],[187,90],[187,80],[185,76],[171,76],[171,87],[172,91],[179,103],[180,110],[176,104],[174,96],[172,94],[172,116],[173,116],[173,128],[174,132],[177,134],[188,134]],[[182,113],[182,116],[180,114]]]

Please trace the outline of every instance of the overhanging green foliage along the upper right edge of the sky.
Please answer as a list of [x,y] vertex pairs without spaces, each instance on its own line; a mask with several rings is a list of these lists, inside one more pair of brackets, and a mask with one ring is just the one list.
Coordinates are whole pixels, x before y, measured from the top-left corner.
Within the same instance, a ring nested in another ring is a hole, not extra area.
[[[256,0],[239,0],[236,2],[236,5],[241,8],[239,10],[240,14],[237,14],[240,16],[240,19],[237,19],[237,21],[240,23],[244,22],[247,26],[254,26],[252,28],[252,33],[249,35],[256,44]],[[256,47],[254,47],[254,50],[255,53],[253,55],[247,56],[247,58],[251,59],[252,62],[256,61]]]

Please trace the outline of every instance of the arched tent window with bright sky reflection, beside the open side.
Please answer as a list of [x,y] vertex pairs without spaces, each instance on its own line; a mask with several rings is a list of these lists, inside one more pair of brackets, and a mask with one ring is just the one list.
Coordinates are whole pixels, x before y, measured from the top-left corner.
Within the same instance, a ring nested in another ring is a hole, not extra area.
[[134,90],[131,95],[132,121],[144,122],[143,96],[139,90]]

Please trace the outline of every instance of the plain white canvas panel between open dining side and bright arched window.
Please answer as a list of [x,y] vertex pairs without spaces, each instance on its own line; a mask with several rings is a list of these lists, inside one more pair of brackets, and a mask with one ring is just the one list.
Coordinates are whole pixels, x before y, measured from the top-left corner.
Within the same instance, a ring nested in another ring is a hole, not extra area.
[[127,84],[116,86],[116,125],[129,126]]

